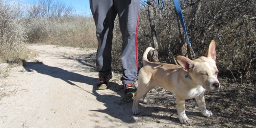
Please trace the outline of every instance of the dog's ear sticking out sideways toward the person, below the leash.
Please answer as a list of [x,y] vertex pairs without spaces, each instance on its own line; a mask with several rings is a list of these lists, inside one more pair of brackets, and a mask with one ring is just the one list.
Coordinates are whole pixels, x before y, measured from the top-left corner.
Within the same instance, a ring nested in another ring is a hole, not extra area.
[[177,56],[177,61],[187,72],[190,68],[194,67],[194,62],[184,56]]

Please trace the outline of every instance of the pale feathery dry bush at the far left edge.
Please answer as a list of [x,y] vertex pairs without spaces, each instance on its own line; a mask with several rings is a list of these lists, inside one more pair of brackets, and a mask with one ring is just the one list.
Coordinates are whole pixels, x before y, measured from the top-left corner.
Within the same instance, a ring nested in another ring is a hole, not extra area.
[[20,6],[0,0],[0,62],[19,62],[26,59],[26,31],[20,19]]

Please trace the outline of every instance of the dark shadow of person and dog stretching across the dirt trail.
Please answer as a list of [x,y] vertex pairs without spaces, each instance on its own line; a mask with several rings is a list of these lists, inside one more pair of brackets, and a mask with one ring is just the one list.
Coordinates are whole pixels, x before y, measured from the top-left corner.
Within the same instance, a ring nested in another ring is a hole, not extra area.
[[[78,62],[80,62],[83,65],[89,65],[86,64],[83,60],[77,59]],[[71,72],[68,70],[61,69],[59,67],[51,67],[48,65],[43,64],[42,62],[24,62],[24,69],[26,69],[28,72],[33,72],[34,70],[38,73],[45,74],[48,76],[52,76],[54,78],[59,78],[67,83],[69,83],[72,86],[79,87],[80,89],[84,90],[82,87],[76,85],[73,82],[80,82],[80,83],[86,83],[87,85],[96,85],[98,82],[97,78],[84,76],[82,74],[78,74],[75,72]],[[94,67],[91,65],[91,67]],[[100,93],[101,90],[96,90],[96,87],[93,87],[92,95],[96,96],[96,100],[99,102],[102,102],[104,106],[106,106],[106,109],[97,109],[97,106],[95,106],[95,109],[89,110],[89,111],[97,111],[100,113],[106,113],[110,115],[111,117],[114,117],[116,119],[120,119],[123,122],[126,123],[134,123],[134,115],[132,114],[132,102],[133,100],[127,100],[124,96],[124,89],[122,85],[119,85],[115,82],[109,82],[109,90],[113,91],[112,94],[103,94]],[[151,118],[157,118],[157,119],[165,119],[170,120],[170,117],[167,116],[160,116],[160,115],[152,115],[153,112],[158,111],[172,111],[173,113],[176,113],[175,109],[167,109],[167,108],[160,108],[160,107],[154,107],[154,106],[146,106],[142,107],[139,105],[139,108],[143,111],[142,114],[136,116],[136,117],[151,117]],[[100,116],[100,115],[91,115],[92,117]],[[113,122],[113,120],[106,117],[109,121]],[[172,119],[173,122],[178,122],[177,119]]]

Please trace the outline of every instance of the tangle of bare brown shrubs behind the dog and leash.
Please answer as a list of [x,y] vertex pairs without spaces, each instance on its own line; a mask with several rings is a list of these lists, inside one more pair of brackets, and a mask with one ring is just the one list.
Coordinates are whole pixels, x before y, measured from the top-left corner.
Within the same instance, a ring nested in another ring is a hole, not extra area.
[[[159,61],[174,63],[173,56],[191,58],[191,51],[172,1],[164,1],[159,10],[154,6],[154,22],[159,42]],[[189,40],[197,57],[203,56],[212,39],[217,43],[217,66],[220,76],[235,78],[240,82],[252,82],[255,78],[256,61],[256,1],[255,0],[189,0],[180,2]],[[153,43],[146,2],[141,2],[138,31],[139,66],[146,47]],[[118,24],[115,24],[119,28]],[[119,29],[114,30],[114,46],[120,46]],[[119,39],[115,39],[115,38]],[[117,41],[117,42],[116,42]],[[185,53],[182,46],[187,47]],[[114,67],[121,68],[120,48],[113,47]],[[173,55],[173,56],[172,56]],[[193,58],[191,58],[193,59]],[[118,66],[117,66],[118,65]],[[233,75],[230,73],[232,72]]]

